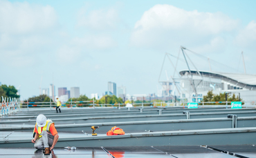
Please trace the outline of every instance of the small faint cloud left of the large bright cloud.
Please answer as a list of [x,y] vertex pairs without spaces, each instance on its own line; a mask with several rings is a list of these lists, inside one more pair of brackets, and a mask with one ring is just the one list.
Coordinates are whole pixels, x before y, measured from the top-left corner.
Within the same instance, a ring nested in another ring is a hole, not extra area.
[[77,26],[88,27],[93,30],[108,30],[116,28],[118,12],[111,8],[108,10],[92,10],[87,14],[86,8],[81,8],[77,17]]

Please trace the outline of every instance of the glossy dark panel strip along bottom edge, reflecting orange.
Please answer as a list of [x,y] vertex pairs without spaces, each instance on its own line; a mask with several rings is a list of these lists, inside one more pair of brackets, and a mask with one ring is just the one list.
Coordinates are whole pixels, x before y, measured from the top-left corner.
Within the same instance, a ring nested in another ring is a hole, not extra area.
[[[214,146],[220,150],[233,152],[244,157],[256,157],[255,146]],[[0,157],[42,157],[42,150],[34,148],[0,148]],[[234,157],[223,152],[211,150],[201,146],[131,146],[131,147],[98,147],[77,148],[66,150],[65,148],[54,148],[52,157],[207,157],[228,158]]]

